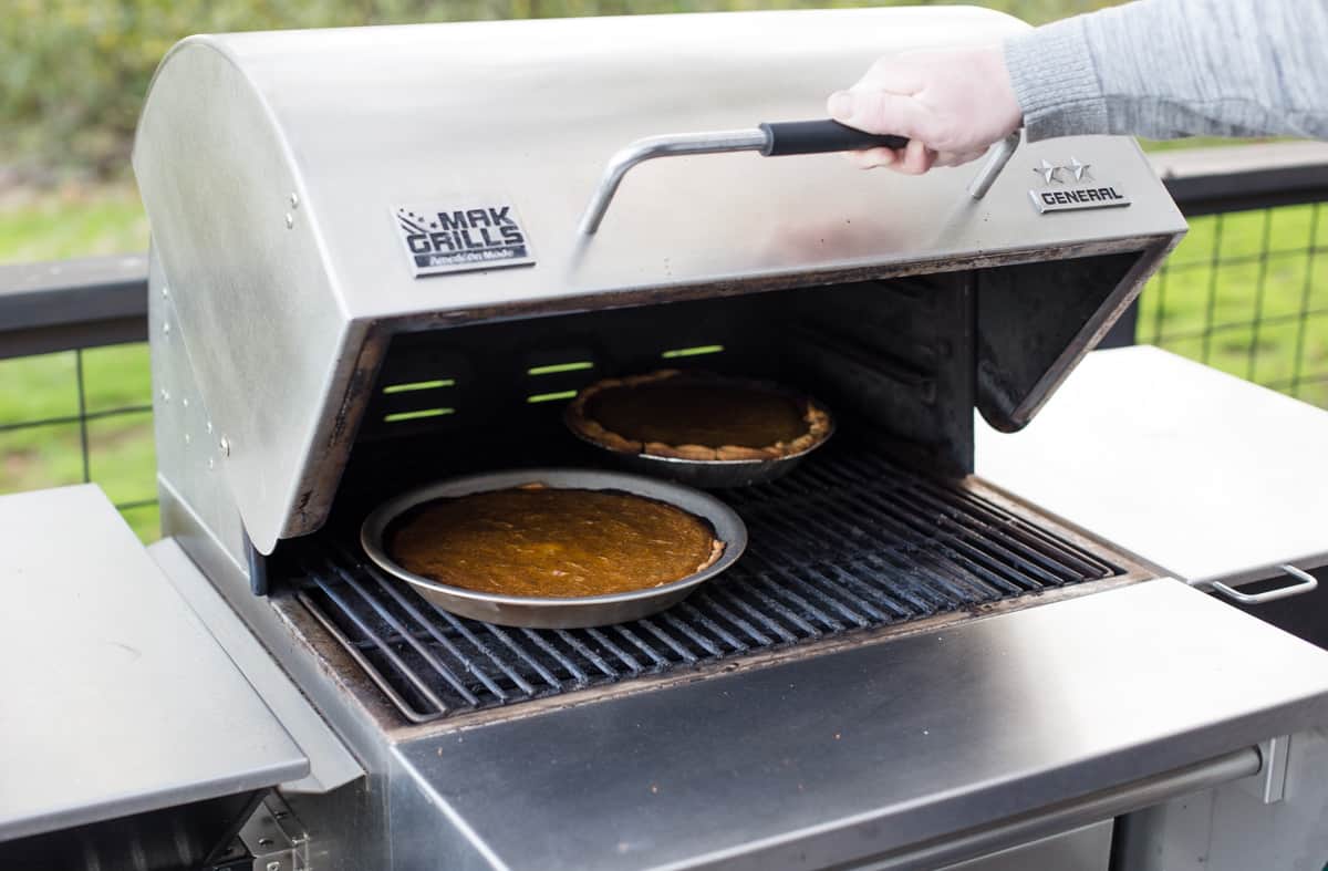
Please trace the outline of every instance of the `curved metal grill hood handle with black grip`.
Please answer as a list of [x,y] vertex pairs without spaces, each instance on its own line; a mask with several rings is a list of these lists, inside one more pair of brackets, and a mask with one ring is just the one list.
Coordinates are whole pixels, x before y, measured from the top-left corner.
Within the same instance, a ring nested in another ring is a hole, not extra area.
[[[1020,135],[1013,133],[997,142],[988,153],[987,162],[968,185],[968,195],[981,199],[1005,169],[1019,146]],[[648,137],[632,142],[608,159],[599,186],[580,220],[580,234],[594,235],[604,220],[604,212],[618,193],[623,177],[637,163],[657,157],[683,154],[721,154],[726,151],[760,151],[765,157],[791,154],[825,154],[829,151],[858,151],[862,149],[902,149],[908,139],[896,135],[876,135],[845,126],[838,121],[780,121],[762,123],[752,130],[718,130],[713,133],[673,133]]]

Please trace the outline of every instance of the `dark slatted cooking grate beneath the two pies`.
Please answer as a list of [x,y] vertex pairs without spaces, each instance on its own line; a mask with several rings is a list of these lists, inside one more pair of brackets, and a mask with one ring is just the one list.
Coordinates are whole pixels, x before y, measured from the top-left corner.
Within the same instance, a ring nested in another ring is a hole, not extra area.
[[521,629],[433,607],[336,536],[299,599],[412,722],[896,625],[1123,570],[1004,509],[838,439],[785,478],[720,494],[742,559],[668,611]]

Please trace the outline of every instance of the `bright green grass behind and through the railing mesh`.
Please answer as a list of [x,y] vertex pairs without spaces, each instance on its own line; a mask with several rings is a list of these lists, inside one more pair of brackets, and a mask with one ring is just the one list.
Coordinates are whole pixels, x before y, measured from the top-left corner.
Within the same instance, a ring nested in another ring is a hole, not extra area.
[[[1139,341],[1159,344],[1226,372],[1328,408],[1328,211],[1296,206],[1191,222],[1190,235],[1145,291]],[[1219,228],[1220,224],[1220,228]],[[1266,264],[1259,252],[1267,247]],[[0,263],[142,251],[146,220],[127,186],[0,198]],[[1301,311],[1316,312],[1301,319]],[[1231,328],[1203,339],[1204,324]],[[1256,319],[1266,323],[1252,325]],[[1301,321],[1304,327],[1301,327]],[[1295,389],[1297,372],[1317,376]],[[0,426],[74,417],[74,353],[0,360]],[[89,412],[147,405],[146,345],[84,352]],[[117,503],[155,495],[151,420],[146,413],[89,421],[89,474]],[[0,432],[0,493],[84,479],[77,424]],[[158,535],[155,506],[126,511],[145,539]]]

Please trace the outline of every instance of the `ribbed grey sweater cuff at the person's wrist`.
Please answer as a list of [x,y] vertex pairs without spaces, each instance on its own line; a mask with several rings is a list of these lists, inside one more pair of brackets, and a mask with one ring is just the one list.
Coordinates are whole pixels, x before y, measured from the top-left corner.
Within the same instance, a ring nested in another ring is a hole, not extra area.
[[1066,19],[1005,41],[1005,69],[1031,142],[1106,133],[1106,101],[1082,19]]

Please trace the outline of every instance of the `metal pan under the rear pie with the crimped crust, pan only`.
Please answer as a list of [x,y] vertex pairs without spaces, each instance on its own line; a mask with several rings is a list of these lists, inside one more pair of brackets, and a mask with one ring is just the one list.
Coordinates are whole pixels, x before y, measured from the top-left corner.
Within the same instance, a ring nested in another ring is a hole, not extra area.
[[770,459],[685,459],[683,457],[659,457],[656,454],[645,454],[640,451],[615,450],[608,445],[598,442],[572,426],[571,405],[568,405],[563,412],[563,425],[572,435],[582,439],[587,445],[599,449],[602,454],[607,454],[615,465],[623,469],[639,471],[647,475],[671,478],[672,481],[691,485],[693,487],[704,487],[706,490],[746,487],[749,485],[766,483],[769,481],[774,481],[776,478],[781,478],[793,471],[794,466],[802,462],[807,454],[825,445],[830,441],[830,437],[834,435],[835,421],[830,410],[821,402],[817,402],[797,390],[790,390],[778,384],[757,381],[753,378],[733,378],[725,376],[721,380],[730,384],[745,384],[753,389],[765,390],[768,393],[778,393],[801,402],[811,402],[825,413],[829,429],[825,435],[813,442],[810,446],[795,454],[786,454],[784,457],[774,457]]

